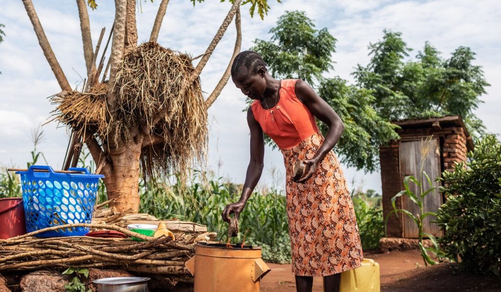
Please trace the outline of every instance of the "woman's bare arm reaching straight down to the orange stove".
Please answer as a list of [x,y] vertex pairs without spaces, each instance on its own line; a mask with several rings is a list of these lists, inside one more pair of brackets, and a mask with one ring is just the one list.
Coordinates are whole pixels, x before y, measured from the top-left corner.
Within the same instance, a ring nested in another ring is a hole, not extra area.
[[235,217],[238,218],[249,196],[258,184],[265,165],[265,140],[263,137],[263,129],[258,121],[256,121],[252,108],[250,107],[247,110],[247,123],[250,129],[250,161],[247,166],[247,173],[245,175],[245,182],[243,183],[240,199],[237,202],[226,205],[222,211],[222,219],[226,222],[229,222],[229,215],[231,213],[234,213]]

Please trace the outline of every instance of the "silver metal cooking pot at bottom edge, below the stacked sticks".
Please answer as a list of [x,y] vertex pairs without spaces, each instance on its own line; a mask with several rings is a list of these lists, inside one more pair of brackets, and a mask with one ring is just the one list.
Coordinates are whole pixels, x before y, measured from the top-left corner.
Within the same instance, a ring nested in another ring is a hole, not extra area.
[[113,277],[93,280],[98,292],[148,292],[146,277]]

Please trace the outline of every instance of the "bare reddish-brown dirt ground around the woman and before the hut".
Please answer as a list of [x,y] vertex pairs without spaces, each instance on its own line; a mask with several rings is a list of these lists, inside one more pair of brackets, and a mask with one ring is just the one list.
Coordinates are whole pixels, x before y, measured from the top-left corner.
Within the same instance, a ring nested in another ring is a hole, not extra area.
[[[379,263],[381,291],[501,291],[499,278],[466,272],[453,273],[451,264],[424,266],[418,250],[365,252]],[[295,292],[290,264],[270,263],[271,271],[261,280],[261,290]],[[313,279],[313,291],[321,292],[322,277]]]

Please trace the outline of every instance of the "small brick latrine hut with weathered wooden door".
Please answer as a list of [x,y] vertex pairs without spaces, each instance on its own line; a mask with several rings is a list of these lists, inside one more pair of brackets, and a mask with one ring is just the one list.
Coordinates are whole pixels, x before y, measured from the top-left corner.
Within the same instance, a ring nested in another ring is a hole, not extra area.
[[[473,150],[473,141],[460,116],[406,119],[394,123],[401,127],[397,130],[400,140],[392,141],[379,150],[385,218],[393,209],[391,198],[404,189],[404,177],[407,175],[418,177],[421,159],[423,159],[423,170],[430,176],[434,186],[439,186],[440,182],[434,181],[435,178],[444,170],[453,170],[454,162],[466,160],[466,153]],[[427,138],[430,139],[426,140]],[[423,152],[423,146],[427,147],[427,151]],[[414,183],[410,185],[414,193],[419,193]],[[428,182],[424,185],[427,189]],[[426,195],[423,202],[424,211],[437,211],[444,200],[438,191]],[[397,208],[418,213],[418,206],[405,195],[398,197],[395,203]],[[438,225],[431,222],[434,219],[434,216],[425,218],[423,231],[440,235]],[[419,237],[416,224],[408,216],[399,214],[397,217],[392,214],[387,228],[389,237]]]

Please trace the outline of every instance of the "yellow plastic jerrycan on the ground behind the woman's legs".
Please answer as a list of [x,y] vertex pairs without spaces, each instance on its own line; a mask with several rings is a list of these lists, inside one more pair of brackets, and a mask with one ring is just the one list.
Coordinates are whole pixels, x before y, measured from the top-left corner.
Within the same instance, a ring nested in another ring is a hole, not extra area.
[[341,273],[341,292],[380,292],[379,263],[364,258],[362,266]]

